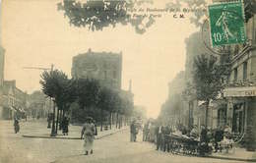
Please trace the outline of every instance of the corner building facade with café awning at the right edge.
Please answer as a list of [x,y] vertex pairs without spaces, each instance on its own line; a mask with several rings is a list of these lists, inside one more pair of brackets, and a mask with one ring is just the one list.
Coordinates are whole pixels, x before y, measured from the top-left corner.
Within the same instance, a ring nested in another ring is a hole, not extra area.
[[[248,42],[231,46],[231,74],[224,89],[227,100],[224,119],[236,134],[251,135],[256,141],[256,15],[246,23]],[[254,130],[253,130],[254,131]],[[256,146],[255,146],[256,148]]]

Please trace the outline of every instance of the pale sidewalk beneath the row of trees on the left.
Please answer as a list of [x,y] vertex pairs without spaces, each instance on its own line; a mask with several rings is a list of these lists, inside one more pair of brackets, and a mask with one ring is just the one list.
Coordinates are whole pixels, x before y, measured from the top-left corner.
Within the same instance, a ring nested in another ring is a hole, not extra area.
[[[62,138],[62,139],[80,139],[82,126],[69,126],[68,136],[63,136],[62,131],[58,130],[57,136],[50,136],[51,129],[47,129],[47,124],[42,122],[24,122],[24,128],[27,128],[30,133],[24,133],[24,137],[37,137],[37,138]],[[100,132],[100,127],[97,127],[97,136],[96,139],[102,138],[104,136],[110,136],[120,131],[128,129],[123,127],[121,129],[116,129],[112,127],[111,130]]]

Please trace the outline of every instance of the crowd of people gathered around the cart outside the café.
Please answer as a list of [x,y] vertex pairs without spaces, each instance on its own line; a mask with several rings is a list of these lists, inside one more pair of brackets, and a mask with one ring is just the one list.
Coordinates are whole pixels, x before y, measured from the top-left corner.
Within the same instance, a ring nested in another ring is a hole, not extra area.
[[[205,126],[201,126],[200,130],[195,125],[190,130],[182,125],[168,126],[160,122],[147,122],[143,129],[143,140],[153,141],[157,144],[157,150],[166,150],[168,142],[166,135],[185,136],[195,139],[199,142],[200,148],[205,152],[212,152],[212,147],[215,152],[225,148],[232,147],[233,140],[231,138],[231,129],[228,125],[220,127],[216,130],[208,130]],[[213,146],[209,146],[212,142]]]

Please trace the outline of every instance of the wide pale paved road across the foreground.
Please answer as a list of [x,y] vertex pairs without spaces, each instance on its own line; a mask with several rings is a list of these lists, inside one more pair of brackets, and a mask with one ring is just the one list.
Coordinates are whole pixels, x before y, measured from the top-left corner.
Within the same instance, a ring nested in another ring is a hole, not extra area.
[[[149,142],[129,142],[129,131],[96,139],[95,153],[83,155],[83,140],[27,138],[23,134],[39,132],[41,124],[23,123],[15,135],[12,123],[0,121],[0,163],[169,163],[209,162],[227,163],[228,160],[171,155],[155,150]],[[139,137],[141,139],[141,137]],[[139,140],[140,140],[139,139]],[[237,162],[238,163],[238,162]],[[241,162],[240,162],[241,163]]]

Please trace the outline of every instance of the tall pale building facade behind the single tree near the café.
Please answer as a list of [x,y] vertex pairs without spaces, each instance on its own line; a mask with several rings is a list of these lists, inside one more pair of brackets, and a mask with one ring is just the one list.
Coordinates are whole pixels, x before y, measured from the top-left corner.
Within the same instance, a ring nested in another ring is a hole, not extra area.
[[[209,31],[204,35],[209,35]],[[205,125],[206,119],[206,107],[203,101],[197,100],[196,91],[192,88],[193,83],[193,70],[194,70],[194,59],[201,55],[207,54],[215,55],[212,51],[207,48],[211,46],[209,40],[202,37],[201,31],[197,31],[191,34],[186,40],[186,63],[185,63],[185,87],[186,87],[186,98],[184,98],[184,110],[187,112],[187,125],[191,128],[193,125],[197,125],[199,128]],[[215,118],[214,111],[210,108],[208,117]],[[213,119],[208,118],[208,124],[210,127],[215,126]],[[217,119],[217,118],[216,118]]]

